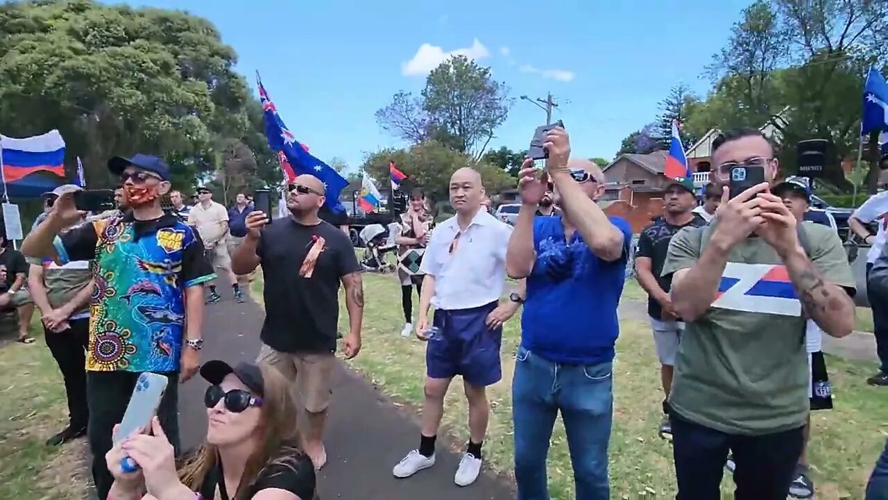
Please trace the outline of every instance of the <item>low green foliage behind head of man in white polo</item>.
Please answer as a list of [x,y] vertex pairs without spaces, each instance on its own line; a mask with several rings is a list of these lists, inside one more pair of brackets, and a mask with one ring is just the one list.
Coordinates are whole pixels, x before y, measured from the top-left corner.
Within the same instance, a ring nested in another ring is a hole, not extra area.
[[[433,199],[448,198],[450,176],[457,169],[471,166],[478,170],[488,193],[515,187],[515,178],[498,165],[475,161],[465,153],[436,141],[425,141],[405,149],[381,149],[370,153],[361,168],[374,179],[387,179],[389,162],[408,175],[408,183],[422,187]],[[385,186],[384,186],[385,188]]]

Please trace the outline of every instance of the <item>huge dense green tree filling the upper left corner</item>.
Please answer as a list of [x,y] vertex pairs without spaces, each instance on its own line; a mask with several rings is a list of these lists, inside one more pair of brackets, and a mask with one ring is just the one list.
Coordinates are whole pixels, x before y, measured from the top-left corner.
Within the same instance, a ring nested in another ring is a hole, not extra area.
[[[7,2],[0,53],[0,130],[27,136],[58,128],[69,174],[74,157],[83,157],[91,186],[113,181],[104,165],[119,154],[165,157],[184,188],[223,167],[220,143],[264,144],[234,50],[209,21],[186,12]],[[270,153],[260,156],[269,167]]]

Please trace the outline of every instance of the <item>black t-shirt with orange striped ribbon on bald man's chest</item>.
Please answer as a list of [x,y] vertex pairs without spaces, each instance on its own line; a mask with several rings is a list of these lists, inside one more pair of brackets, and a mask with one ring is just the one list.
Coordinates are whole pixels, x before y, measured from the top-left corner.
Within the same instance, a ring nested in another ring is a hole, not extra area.
[[[323,238],[324,247],[305,278],[300,268],[315,238]],[[262,342],[281,352],[336,351],[339,282],[361,270],[345,232],[323,221],[304,226],[276,219],[262,230],[256,254],[266,277]]]

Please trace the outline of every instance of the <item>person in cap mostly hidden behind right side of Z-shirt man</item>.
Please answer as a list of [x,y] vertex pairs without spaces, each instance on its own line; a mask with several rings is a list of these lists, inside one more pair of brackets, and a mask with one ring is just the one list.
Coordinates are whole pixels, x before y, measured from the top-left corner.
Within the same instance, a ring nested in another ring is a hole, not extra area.
[[[808,186],[796,179],[782,181],[771,190],[775,196],[780,197],[783,203],[796,217],[796,222],[802,224],[802,230],[810,224],[821,224],[836,231],[836,220],[832,214],[823,210],[811,208],[811,190]],[[821,347],[823,331],[808,319],[805,322],[805,349],[808,351],[808,399],[811,400],[812,410],[832,409],[832,389],[827,375],[826,360],[823,358]],[[796,479],[789,487],[789,495],[794,498],[813,498],[814,484],[808,477],[808,443],[811,440],[811,414],[808,414],[808,422],[805,424],[805,442],[802,444],[802,455],[799,456],[796,471]]]

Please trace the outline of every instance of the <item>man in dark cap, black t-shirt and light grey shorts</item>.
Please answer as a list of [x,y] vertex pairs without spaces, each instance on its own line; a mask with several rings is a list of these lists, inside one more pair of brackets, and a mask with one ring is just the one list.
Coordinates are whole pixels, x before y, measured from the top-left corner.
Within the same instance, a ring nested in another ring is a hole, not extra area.
[[[678,341],[684,324],[672,307],[669,292],[672,280],[670,276],[661,276],[666,252],[673,236],[685,227],[700,227],[706,220],[693,211],[694,181],[690,179],[673,179],[663,188],[663,216],[641,230],[638,238],[638,253],[635,259],[635,270],[638,284],[647,292],[647,315],[651,319],[654,330],[654,346],[657,358],[660,359],[660,382],[663,389],[663,419],[660,423],[660,437],[671,439],[672,428],[669,422],[669,392],[672,387],[672,374],[675,367],[675,356],[678,352]],[[719,196],[719,199],[721,197]]]

